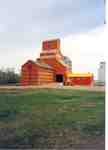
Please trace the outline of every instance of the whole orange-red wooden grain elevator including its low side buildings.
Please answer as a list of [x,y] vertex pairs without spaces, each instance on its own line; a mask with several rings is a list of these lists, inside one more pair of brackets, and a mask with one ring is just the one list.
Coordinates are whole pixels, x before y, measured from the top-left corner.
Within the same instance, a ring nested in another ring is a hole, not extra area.
[[21,85],[42,85],[54,82],[63,82],[65,85],[90,85],[92,83],[93,76],[85,74],[85,77],[82,77],[80,75],[77,77],[70,72],[61,53],[60,40],[48,40],[42,43],[42,51],[36,61],[28,60],[22,65]]

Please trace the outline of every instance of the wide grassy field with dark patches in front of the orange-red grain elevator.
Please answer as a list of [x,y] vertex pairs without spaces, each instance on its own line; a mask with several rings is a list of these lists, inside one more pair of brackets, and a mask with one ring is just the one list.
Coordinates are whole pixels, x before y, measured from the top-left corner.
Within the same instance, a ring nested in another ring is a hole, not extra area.
[[82,137],[102,137],[104,99],[104,92],[71,89],[2,91],[0,147],[51,148],[67,141],[69,148]]

